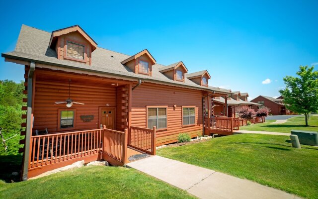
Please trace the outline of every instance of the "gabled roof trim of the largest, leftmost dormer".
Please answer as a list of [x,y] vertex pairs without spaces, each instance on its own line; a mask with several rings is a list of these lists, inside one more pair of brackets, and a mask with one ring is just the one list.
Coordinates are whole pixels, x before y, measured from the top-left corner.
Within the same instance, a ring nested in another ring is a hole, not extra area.
[[79,26],[79,25],[73,25],[70,27],[62,28],[59,30],[55,30],[51,34],[50,48],[55,48],[55,44],[57,42],[57,38],[61,35],[68,34],[70,32],[76,32],[78,31],[79,34],[81,34],[92,46],[91,51],[93,52],[97,48],[97,43]]

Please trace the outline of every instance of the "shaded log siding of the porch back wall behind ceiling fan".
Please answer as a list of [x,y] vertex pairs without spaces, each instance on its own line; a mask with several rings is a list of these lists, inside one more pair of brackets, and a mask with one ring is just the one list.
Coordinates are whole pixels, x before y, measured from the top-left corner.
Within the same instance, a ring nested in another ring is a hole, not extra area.
[[[51,82],[37,80],[35,84],[34,100],[34,127],[43,130],[48,128],[49,133],[58,132],[58,109],[66,108],[66,104],[55,105],[55,101],[64,101],[69,98],[68,82]],[[85,103],[85,105],[74,104],[71,108],[77,110],[76,129],[86,130],[99,128],[98,107],[116,106],[116,88],[100,85],[85,85],[71,83],[71,99]],[[80,115],[94,115],[90,122],[83,122]],[[67,128],[65,131],[69,131]],[[60,131],[61,132],[61,131]]]

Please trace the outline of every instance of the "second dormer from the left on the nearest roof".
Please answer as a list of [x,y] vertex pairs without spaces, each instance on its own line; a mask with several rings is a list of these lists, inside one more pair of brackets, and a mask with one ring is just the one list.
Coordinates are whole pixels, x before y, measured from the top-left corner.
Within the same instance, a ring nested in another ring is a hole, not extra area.
[[121,62],[128,68],[130,68],[136,74],[143,74],[152,76],[153,65],[156,64],[155,58],[150,54],[150,52],[145,49],[136,55],[133,55]]

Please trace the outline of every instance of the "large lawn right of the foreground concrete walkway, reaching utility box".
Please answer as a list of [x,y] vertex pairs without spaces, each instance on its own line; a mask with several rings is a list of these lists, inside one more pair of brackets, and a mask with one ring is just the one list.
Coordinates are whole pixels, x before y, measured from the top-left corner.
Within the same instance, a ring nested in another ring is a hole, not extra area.
[[318,147],[292,148],[288,136],[239,134],[167,147],[157,154],[318,199]]

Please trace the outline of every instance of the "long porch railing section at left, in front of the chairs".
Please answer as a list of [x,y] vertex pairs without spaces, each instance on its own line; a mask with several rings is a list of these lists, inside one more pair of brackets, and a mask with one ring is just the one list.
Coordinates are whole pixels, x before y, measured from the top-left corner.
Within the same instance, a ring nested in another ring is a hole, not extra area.
[[29,169],[101,152],[103,129],[31,136]]

